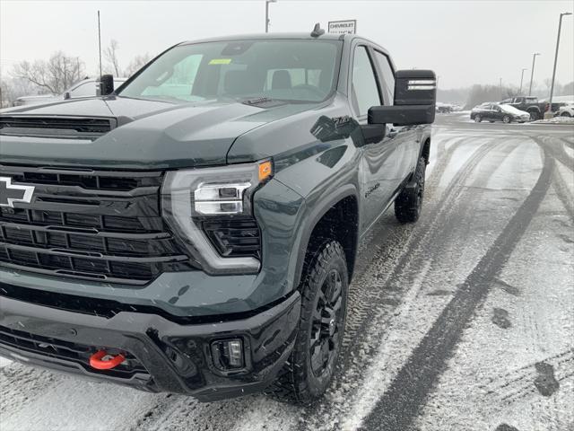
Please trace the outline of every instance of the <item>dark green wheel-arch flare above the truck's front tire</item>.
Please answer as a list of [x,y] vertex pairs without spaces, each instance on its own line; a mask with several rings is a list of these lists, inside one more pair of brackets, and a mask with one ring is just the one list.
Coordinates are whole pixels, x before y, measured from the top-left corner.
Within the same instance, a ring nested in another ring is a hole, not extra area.
[[[311,239],[311,233],[317,226],[317,223],[326,213],[335,206],[335,204],[344,198],[355,198],[357,200],[357,204],[361,201],[359,199],[359,191],[353,184],[346,184],[339,189],[336,189],[334,193],[331,193],[328,197],[322,198],[317,205],[314,205],[313,208],[310,210],[308,215],[305,215],[305,218],[308,219],[307,223],[303,225],[300,234],[300,243],[297,251],[297,263],[295,264],[295,273],[293,278],[293,288],[297,289],[300,285],[303,265],[305,263],[305,257],[307,256],[307,249],[309,247],[309,240]],[[358,205],[359,207],[359,205]],[[357,217],[358,221],[359,217]],[[357,229],[357,233],[359,229]],[[356,235],[355,238],[355,247],[357,246],[357,242],[359,241],[359,235]]]

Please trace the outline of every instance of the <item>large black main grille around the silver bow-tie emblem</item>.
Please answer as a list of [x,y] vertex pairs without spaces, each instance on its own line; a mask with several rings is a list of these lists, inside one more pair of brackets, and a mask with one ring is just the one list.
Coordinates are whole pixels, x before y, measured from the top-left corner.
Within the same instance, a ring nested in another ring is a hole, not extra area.
[[0,211],[0,266],[144,285],[196,268],[161,217],[161,172],[93,172],[0,165],[34,186],[30,204]]

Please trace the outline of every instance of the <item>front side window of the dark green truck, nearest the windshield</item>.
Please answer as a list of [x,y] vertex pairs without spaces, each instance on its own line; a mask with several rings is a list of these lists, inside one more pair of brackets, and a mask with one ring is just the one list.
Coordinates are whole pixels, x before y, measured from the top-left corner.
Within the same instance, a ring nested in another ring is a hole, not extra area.
[[371,106],[381,104],[375,73],[370,64],[366,47],[355,48],[352,62],[352,108],[361,117],[367,115]]

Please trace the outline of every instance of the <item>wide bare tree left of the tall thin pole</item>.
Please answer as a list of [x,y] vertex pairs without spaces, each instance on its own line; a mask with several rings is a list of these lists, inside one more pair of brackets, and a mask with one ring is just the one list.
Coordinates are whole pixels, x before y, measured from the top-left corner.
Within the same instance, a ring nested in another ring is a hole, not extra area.
[[57,51],[48,61],[22,61],[14,65],[11,75],[48,92],[60,94],[83,78],[83,62],[79,57],[67,57],[64,52]]

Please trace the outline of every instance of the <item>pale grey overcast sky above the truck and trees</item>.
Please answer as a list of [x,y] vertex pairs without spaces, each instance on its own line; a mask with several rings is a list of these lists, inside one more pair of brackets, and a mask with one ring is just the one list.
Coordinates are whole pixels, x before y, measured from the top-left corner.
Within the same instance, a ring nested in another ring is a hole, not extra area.
[[[270,4],[270,31],[311,31],[315,22],[356,19],[357,32],[387,48],[399,68],[431,68],[440,87],[520,84],[522,67],[540,52],[535,82],[552,76],[558,20],[574,2],[278,0]],[[26,1],[0,0],[2,74],[22,60],[56,50],[98,65],[97,11],[102,47],[119,42],[120,66],[181,40],[265,31],[265,0]],[[574,80],[574,25],[562,22],[557,80]]]

